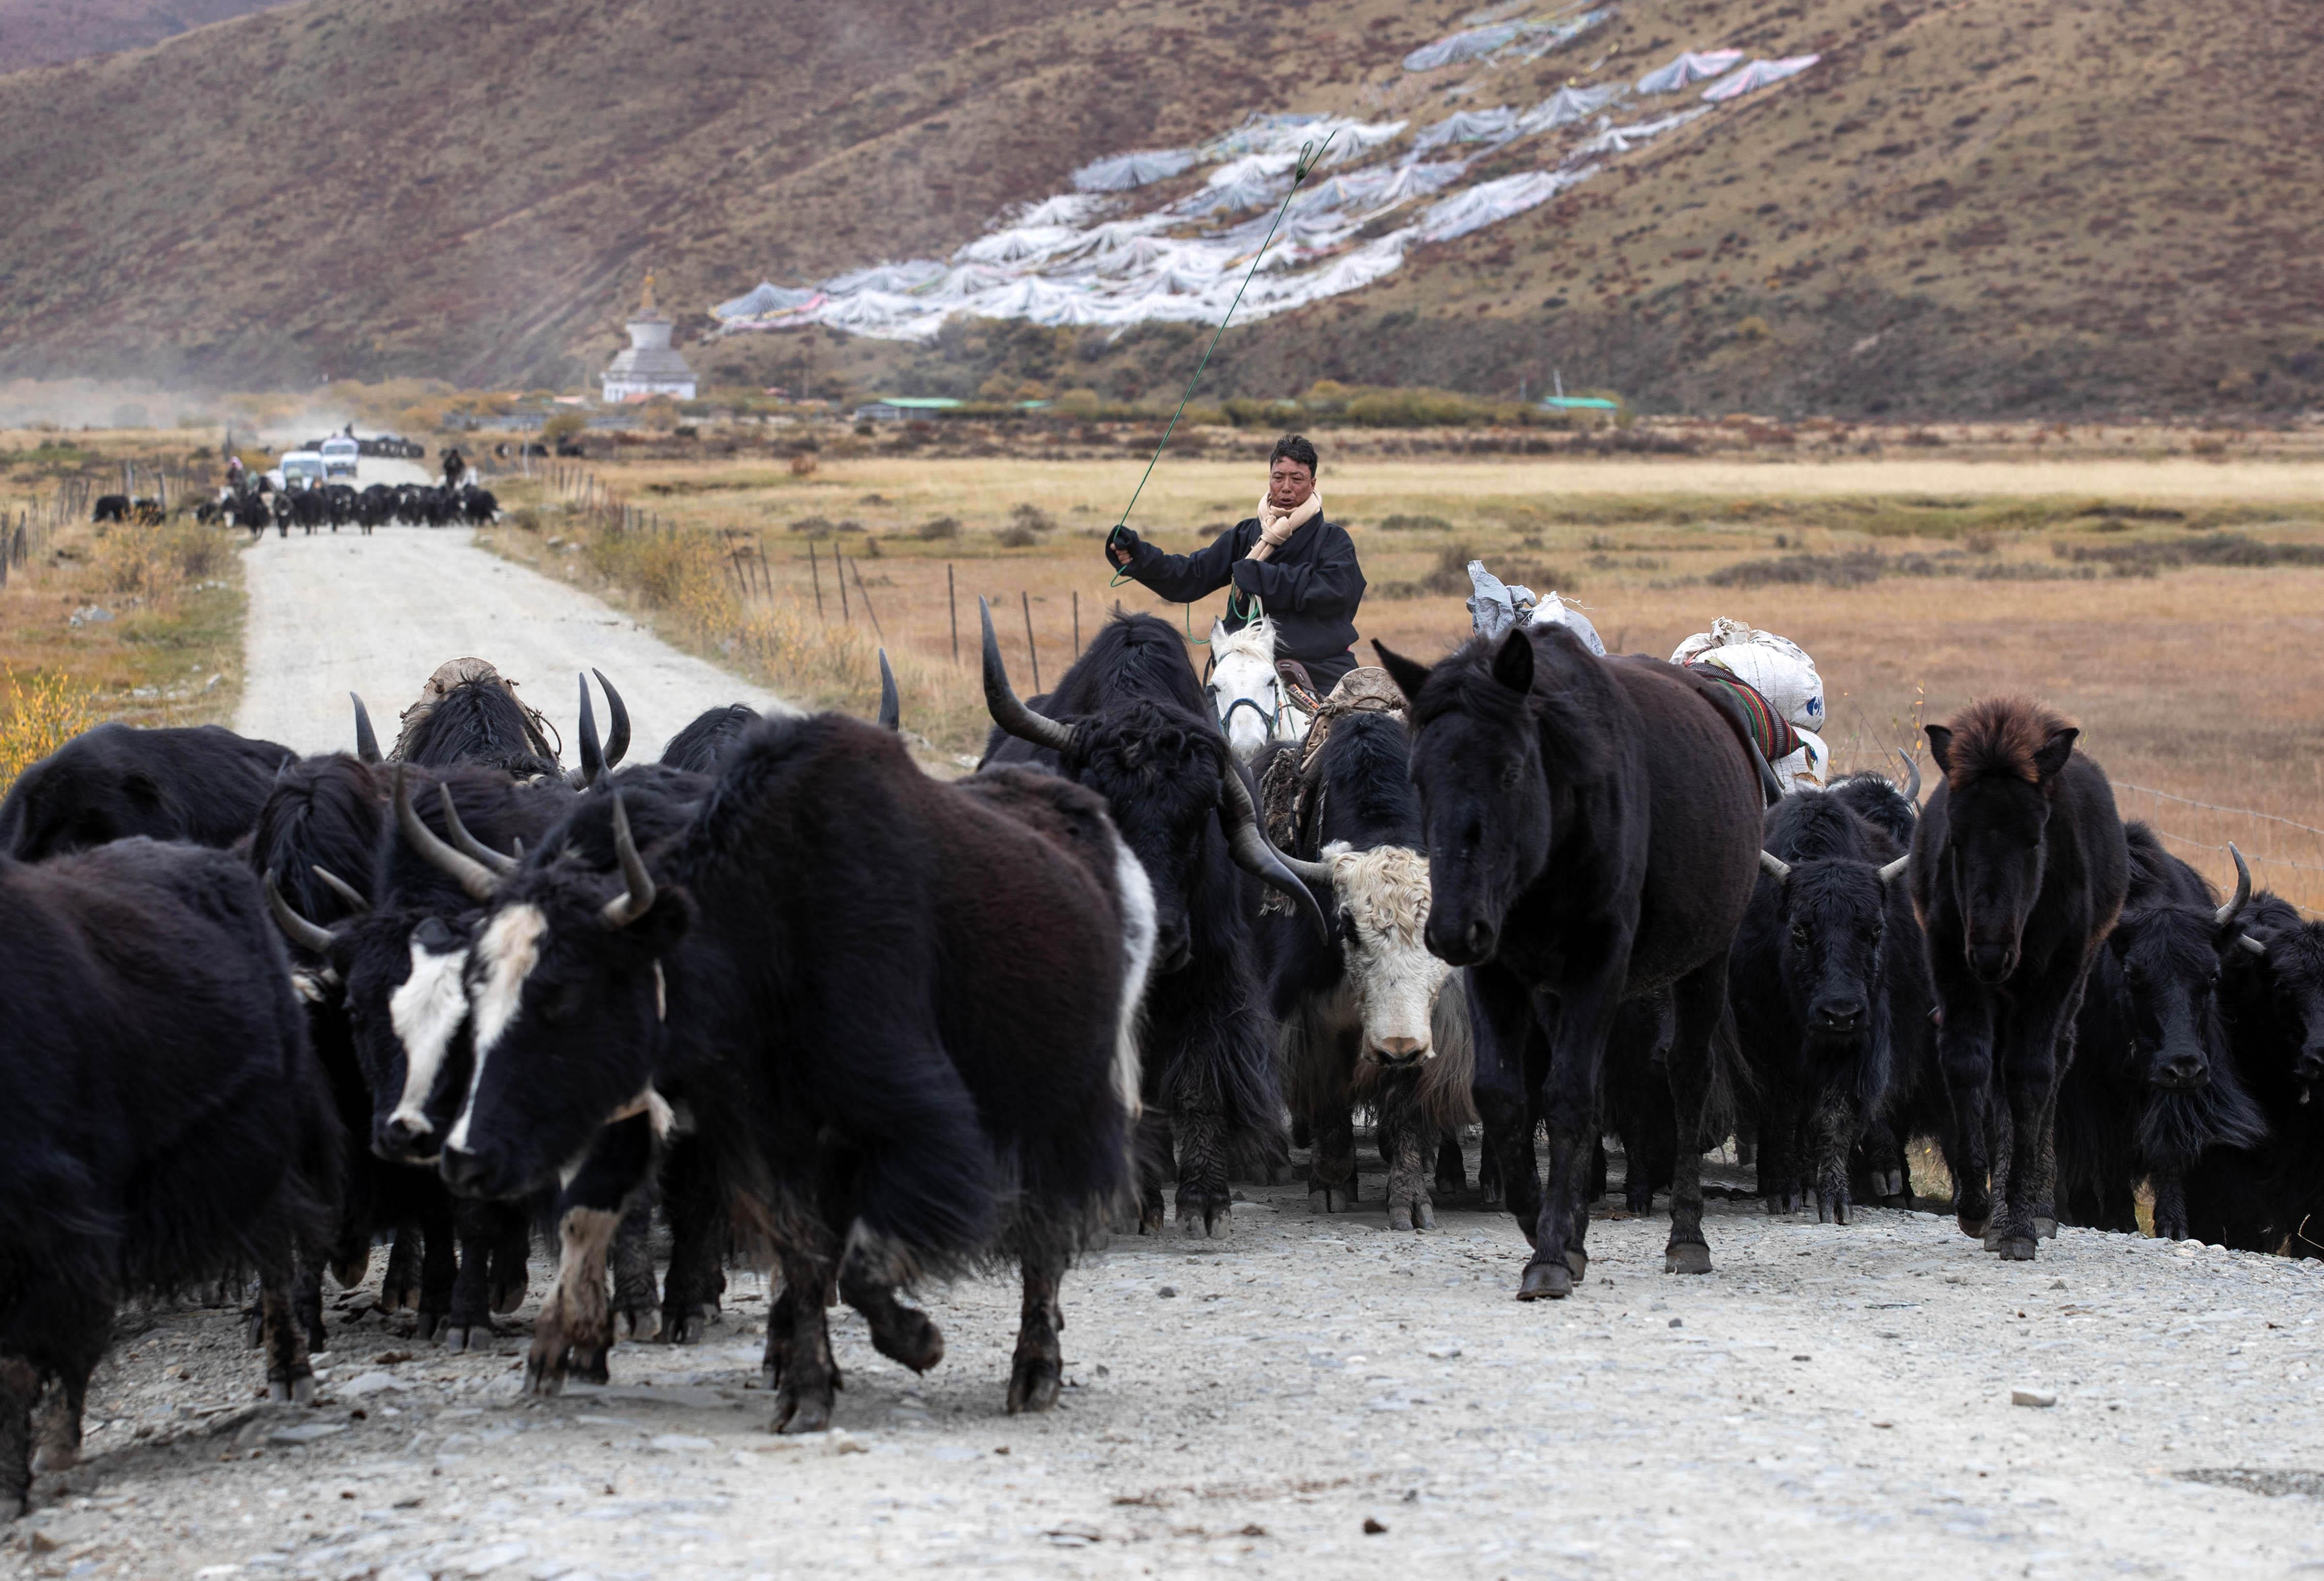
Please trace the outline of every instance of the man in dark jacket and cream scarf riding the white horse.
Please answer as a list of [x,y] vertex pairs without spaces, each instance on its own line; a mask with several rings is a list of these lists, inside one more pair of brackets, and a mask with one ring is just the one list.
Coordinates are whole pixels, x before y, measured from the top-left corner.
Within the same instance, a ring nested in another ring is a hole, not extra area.
[[1267,463],[1267,495],[1255,516],[1195,553],[1162,553],[1120,525],[1106,535],[1106,560],[1181,604],[1232,581],[1227,630],[1269,616],[1276,658],[1290,660],[1292,679],[1320,698],[1355,670],[1364,572],[1348,532],[1322,516],[1315,472],[1315,446],[1283,435]]

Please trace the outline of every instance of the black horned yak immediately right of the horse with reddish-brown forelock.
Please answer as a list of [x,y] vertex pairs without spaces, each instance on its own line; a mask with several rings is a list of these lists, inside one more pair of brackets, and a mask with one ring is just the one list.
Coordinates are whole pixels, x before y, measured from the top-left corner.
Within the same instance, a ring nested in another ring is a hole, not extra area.
[[2243,932],[2252,870],[2236,858],[2224,904],[2145,823],[2122,828],[2131,884],[2089,970],[2073,1063],[2057,1093],[2061,1223],[2138,1232],[2133,1193],[2154,1193],[2154,1235],[2187,1239],[2187,1176],[2219,1149],[2257,1149],[2268,1123],[2229,1058],[2222,946]]

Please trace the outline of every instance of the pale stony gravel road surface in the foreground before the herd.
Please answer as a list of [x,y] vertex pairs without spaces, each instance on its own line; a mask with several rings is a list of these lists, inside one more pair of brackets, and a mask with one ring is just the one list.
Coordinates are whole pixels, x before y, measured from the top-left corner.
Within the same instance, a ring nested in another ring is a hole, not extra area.
[[[611,1388],[518,1395],[528,1304],[451,1355],[328,1297],[311,1409],[235,1314],[123,1314],[88,1458],[0,1528],[40,1576],[734,1579],[2282,1576],[2324,1569],[2324,1265],[2064,1230],[2006,1265],[1950,1218],[1713,1202],[1592,1228],[1511,1300],[1506,1214],[1427,1235],[1243,1188],[1229,1239],[1127,1237],[1067,1283],[1067,1393],[1002,1414],[1016,1293],[930,1290],[911,1376],[832,1314],[830,1435],[767,1435],[767,1286]],[[1601,1207],[1601,1214],[1606,1209]],[[535,1267],[535,1297],[548,1276]],[[2015,1404],[2013,1404],[2015,1400]]]

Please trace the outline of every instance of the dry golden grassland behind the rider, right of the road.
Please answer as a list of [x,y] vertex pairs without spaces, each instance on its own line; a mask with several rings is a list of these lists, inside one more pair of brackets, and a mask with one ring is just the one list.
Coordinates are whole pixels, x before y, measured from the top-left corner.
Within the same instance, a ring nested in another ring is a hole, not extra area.
[[[1071,660],[1076,607],[1083,637],[1116,602],[1190,623],[1195,637],[1220,607],[1213,598],[1181,611],[1134,584],[1109,586],[1099,537],[1136,465],[867,458],[809,477],[779,463],[593,470],[727,579],[725,614],[697,593],[672,635],[739,663],[755,649],[720,637],[718,621],[776,621],[788,637],[767,679],[804,702],[855,709],[869,709],[869,651],[885,642],[904,674],[906,721],[946,753],[974,753],[983,732],[978,595],[997,609],[1020,691],[1034,688],[1027,611],[1046,686]],[[1192,549],[1250,512],[1257,481],[1246,463],[1164,463],[1134,523],[1171,551]],[[1469,551],[1576,598],[1618,651],[1669,653],[1722,614],[1794,637],[1824,674],[1843,770],[1892,767],[1894,749],[1917,746],[1924,718],[1989,691],[2029,691],[2082,723],[2126,816],[2150,818],[2212,879],[2231,877],[2233,839],[2264,884],[2324,909],[2324,679],[2310,658],[2324,649],[2324,565],[2296,563],[2324,560],[2317,460],[1364,458],[1327,460],[1322,488],[1332,516],[1353,525],[1373,588],[1364,637],[1413,653],[1459,642],[1466,586],[1446,584],[1443,567]],[[593,570],[607,565],[602,535],[555,491],[511,481],[502,500],[521,507],[500,535],[507,553],[604,581]],[[955,525],[927,525],[941,521]],[[2266,556],[2294,563],[2173,565],[2185,544],[2224,537],[2291,546]],[[755,572],[718,567],[730,546],[746,560],[765,549],[769,598],[734,598]],[[846,556],[846,623],[834,551]],[[1880,560],[1868,567],[1866,556]],[[1736,581],[1731,567],[1759,563],[1810,579]],[[1817,579],[1817,567],[1850,586]],[[676,611],[655,614],[669,625]]]

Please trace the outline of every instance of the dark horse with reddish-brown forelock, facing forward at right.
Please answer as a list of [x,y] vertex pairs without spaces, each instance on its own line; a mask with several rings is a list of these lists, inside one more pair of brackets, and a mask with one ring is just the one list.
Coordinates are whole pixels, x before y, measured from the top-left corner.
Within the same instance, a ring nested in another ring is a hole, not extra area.
[[1910,877],[1952,1093],[1954,1214],[1964,1235],[2031,1260],[2057,1230],[2057,1083],[2129,849],[2106,770],[2050,709],[1987,698],[1927,732],[1945,779],[1913,832]]

